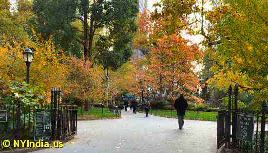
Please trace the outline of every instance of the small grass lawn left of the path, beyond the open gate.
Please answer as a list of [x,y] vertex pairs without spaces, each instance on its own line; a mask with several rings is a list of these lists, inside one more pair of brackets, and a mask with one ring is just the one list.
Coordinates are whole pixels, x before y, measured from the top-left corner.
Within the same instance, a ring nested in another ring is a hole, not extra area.
[[[92,108],[89,111],[83,110],[83,119],[115,119],[120,118],[120,113],[110,112],[109,108]],[[78,120],[82,119],[82,108],[78,107]],[[82,120],[83,120],[82,119]]]

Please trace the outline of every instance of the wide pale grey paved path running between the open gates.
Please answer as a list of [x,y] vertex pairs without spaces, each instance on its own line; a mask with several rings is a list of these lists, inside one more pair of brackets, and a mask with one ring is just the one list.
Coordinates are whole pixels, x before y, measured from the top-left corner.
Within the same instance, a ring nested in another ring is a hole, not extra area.
[[216,153],[217,123],[122,111],[122,119],[78,121],[77,136],[63,148],[34,153]]

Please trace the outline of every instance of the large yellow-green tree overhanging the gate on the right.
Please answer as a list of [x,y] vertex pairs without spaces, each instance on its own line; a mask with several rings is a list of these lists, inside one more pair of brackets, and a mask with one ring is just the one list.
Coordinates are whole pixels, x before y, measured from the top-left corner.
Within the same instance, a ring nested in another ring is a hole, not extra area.
[[211,11],[201,9],[211,23],[201,27],[204,44],[214,48],[209,50],[215,60],[210,84],[226,88],[237,83],[257,101],[267,99],[267,7],[267,0],[219,0]]

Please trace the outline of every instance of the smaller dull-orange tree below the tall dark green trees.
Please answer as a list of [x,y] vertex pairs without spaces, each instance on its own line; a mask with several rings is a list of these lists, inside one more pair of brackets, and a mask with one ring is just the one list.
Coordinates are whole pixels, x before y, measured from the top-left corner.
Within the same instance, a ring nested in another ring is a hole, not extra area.
[[[88,106],[88,102],[101,102],[104,98],[104,88],[102,84],[102,71],[98,67],[91,68],[90,64],[84,66],[84,61],[71,56],[68,61],[68,84],[65,91],[69,99],[80,100]],[[86,107],[86,109],[88,109]]]

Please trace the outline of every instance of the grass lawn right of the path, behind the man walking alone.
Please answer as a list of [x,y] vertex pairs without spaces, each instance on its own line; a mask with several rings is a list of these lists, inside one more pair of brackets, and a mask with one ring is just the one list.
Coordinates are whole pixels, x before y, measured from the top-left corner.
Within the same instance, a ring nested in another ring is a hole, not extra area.
[[[144,111],[140,111],[142,113],[145,113]],[[149,114],[156,115],[156,116],[162,116],[162,117],[169,117],[169,118],[177,118],[177,112],[171,111],[171,110],[162,110],[160,109],[154,109],[150,110]],[[208,121],[217,121],[216,116],[218,116],[218,112],[204,112],[204,111],[186,111],[185,118],[184,119],[193,119],[197,120],[197,117],[199,120],[208,120]]]

